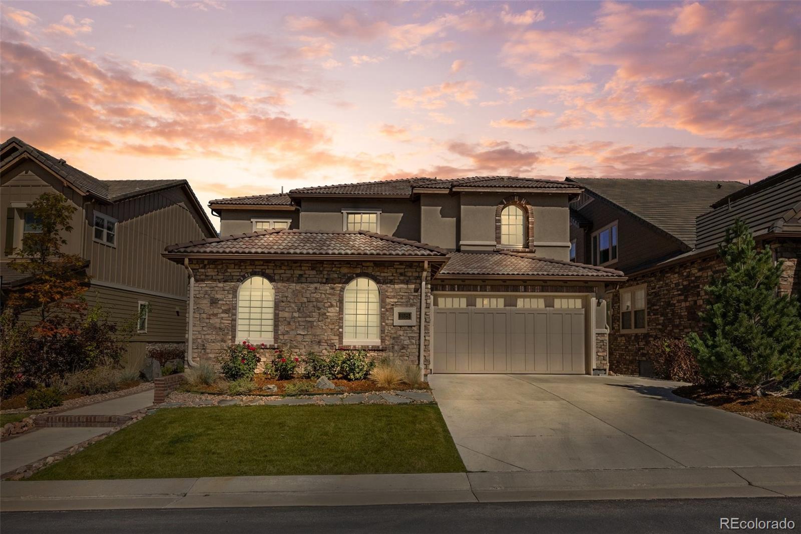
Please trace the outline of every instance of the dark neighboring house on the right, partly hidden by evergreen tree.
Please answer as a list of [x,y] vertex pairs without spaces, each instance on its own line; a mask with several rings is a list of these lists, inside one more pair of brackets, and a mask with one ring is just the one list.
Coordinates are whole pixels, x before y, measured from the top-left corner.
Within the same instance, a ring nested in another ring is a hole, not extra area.
[[782,290],[799,293],[801,164],[746,186],[696,180],[569,178],[577,261],[619,269],[613,288],[610,370],[650,374],[649,346],[701,328],[698,314],[725,230],[741,218],[760,248],[785,260]]

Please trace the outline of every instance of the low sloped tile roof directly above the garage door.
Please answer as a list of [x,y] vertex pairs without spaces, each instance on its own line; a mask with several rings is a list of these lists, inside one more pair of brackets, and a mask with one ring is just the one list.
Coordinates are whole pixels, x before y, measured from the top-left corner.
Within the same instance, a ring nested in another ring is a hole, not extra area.
[[624,278],[623,273],[614,269],[505,251],[452,253],[448,263],[437,273],[441,275]]

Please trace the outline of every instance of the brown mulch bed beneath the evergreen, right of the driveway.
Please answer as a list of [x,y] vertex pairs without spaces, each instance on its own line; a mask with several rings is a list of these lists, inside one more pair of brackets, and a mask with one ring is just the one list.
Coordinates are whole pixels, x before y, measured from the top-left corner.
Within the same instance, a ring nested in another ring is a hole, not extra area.
[[801,399],[766,395],[757,397],[749,390],[710,390],[704,386],[681,386],[673,390],[679,397],[751,419],[801,432]]

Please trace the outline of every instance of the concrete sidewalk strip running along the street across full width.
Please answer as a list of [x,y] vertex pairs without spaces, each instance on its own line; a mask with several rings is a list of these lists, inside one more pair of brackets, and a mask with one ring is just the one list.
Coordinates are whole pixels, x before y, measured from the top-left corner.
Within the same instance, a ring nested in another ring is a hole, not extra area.
[[801,466],[0,482],[0,511],[801,496]]

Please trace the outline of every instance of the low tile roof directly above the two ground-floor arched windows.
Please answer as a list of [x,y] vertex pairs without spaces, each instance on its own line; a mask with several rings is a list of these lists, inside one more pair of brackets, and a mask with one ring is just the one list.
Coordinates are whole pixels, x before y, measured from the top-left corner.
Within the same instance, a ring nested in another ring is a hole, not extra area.
[[266,254],[302,256],[445,257],[448,252],[425,243],[380,233],[260,230],[171,245],[167,254]]

